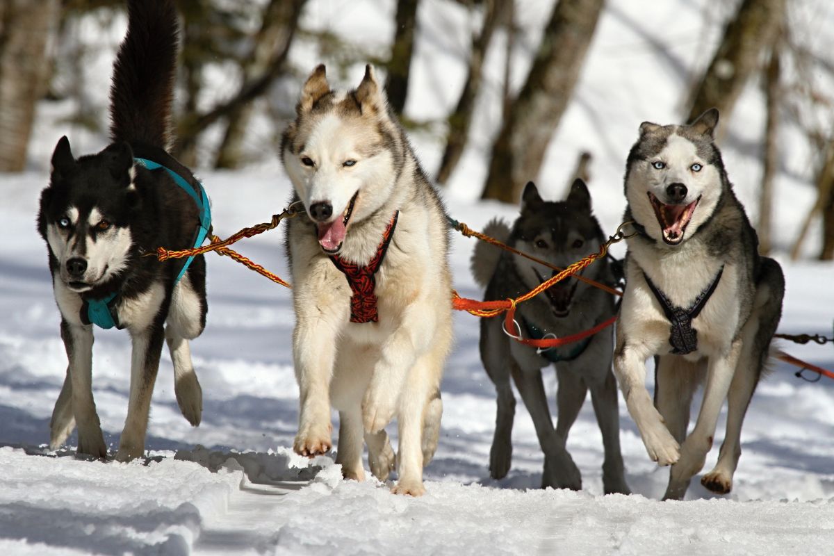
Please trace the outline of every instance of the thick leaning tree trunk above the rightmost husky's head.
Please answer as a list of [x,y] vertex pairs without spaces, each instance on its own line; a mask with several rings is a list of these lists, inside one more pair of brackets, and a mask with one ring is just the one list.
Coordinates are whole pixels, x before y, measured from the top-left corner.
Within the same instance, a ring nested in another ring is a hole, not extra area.
[[785,0],[743,0],[690,95],[687,122],[713,107],[725,122],[729,120],[747,79],[761,67],[760,54],[774,43],[784,18]]

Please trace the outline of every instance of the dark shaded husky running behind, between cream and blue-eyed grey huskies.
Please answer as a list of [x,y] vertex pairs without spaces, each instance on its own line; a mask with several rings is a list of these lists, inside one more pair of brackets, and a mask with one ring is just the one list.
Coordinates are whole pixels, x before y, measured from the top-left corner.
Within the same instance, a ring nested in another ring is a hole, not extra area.
[[[558,203],[542,200],[535,185],[528,183],[521,199],[521,214],[512,229],[503,222],[493,221],[485,233],[560,268],[598,251],[605,240],[600,224],[591,214],[588,189],[580,179],[573,183],[568,198]],[[486,287],[486,299],[506,299],[530,291],[555,272],[527,258],[479,243],[472,257],[472,273]],[[598,282],[615,283],[615,270],[608,259],[590,265],[583,273]],[[615,303],[609,293],[567,278],[530,301],[520,303],[515,313],[518,323],[515,333],[524,338],[565,336],[592,328],[614,313]],[[480,327],[480,358],[498,394],[495,438],[490,450],[492,477],[502,478],[510,470],[510,435],[515,414],[512,376],[545,453],[542,486],[576,490],[582,487],[580,471],[565,450],[565,441],[590,389],[605,446],[603,488],[605,493],[629,493],[620,453],[617,387],[611,373],[614,348],[611,330],[539,353],[536,348],[511,339],[503,326],[503,317],[494,317],[482,319]],[[556,394],[559,417],[555,429],[541,377],[541,369],[551,363],[555,363],[559,378]]]

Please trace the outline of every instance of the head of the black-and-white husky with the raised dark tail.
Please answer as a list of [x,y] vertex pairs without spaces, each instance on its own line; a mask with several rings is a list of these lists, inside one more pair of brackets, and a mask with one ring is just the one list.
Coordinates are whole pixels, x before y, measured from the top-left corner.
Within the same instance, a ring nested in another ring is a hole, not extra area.
[[58,142],[50,187],[41,198],[41,226],[55,270],[73,292],[88,291],[126,268],[133,247],[127,220],[135,203],[134,175],[127,144],[76,161],[68,140]]

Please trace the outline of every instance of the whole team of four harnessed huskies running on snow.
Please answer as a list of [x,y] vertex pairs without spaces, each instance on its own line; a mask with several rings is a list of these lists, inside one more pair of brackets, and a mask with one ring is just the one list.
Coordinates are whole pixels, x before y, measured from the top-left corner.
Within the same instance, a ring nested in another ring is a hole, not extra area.
[[[177,40],[172,0],[128,0],[128,32],[110,90],[112,143],[76,158],[61,138],[53,153],[38,230],[48,245],[68,368],[50,424],[52,448],[78,428],[78,453],[107,456],[91,386],[94,326],[127,328],[133,343],[116,459],[143,453],[163,343],[183,416],[200,423],[202,391],[188,340],[202,333],[208,310],[203,256],[179,263],[143,256],[159,246],[200,245],[211,227],[202,184],[167,151]],[[716,493],[731,490],[741,423],[766,365],[785,283],[779,265],[757,252],[756,232],[713,141],[717,123],[712,109],[690,125],[641,124],[625,168],[624,221],[634,230],[625,263],[605,259],[582,271],[612,287],[625,278],[619,308],[609,293],[569,278],[521,303],[513,331],[561,337],[618,313],[616,338],[608,328],[536,350],[512,340],[500,317],[481,320],[481,360],[497,394],[492,477],[504,477],[511,465],[512,382],[544,453],[543,486],[581,488],[565,441],[590,390],[605,448],[605,493],[629,493],[619,383],[650,458],[671,466],[664,498],[683,498],[701,471],[726,399],[724,443],[701,483]],[[385,480],[396,469],[392,491],[420,495],[440,434],[440,378],[452,338],[443,204],[370,66],[347,92],[330,88],[324,66],[314,69],[280,158],[292,200],[306,212],[290,221],[286,237],[300,393],[294,450],[329,452],[336,408],[344,477],[364,479],[367,446],[375,477]],[[581,180],[558,202],[528,183],[515,222],[495,220],[485,233],[561,268],[605,241]],[[485,243],[475,247],[472,271],[486,299],[517,297],[553,272]],[[654,399],[645,384],[648,358],[656,363]],[[551,364],[558,377],[555,428],[541,374]],[[701,385],[703,401],[687,435]],[[385,432],[394,419],[396,455]]]

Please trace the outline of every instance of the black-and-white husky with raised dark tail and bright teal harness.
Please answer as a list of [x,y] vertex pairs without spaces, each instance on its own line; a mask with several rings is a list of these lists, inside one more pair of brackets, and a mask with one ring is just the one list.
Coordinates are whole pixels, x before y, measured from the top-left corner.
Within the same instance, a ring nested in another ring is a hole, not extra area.
[[77,159],[64,137],[53,153],[38,231],[48,245],[69,359],[53,410],[53,449],[78,425],[78,453],[107,456],[91,385],[94,324],[127,328],[133,342],[128,418],[116,459],[143,453],[164,341],[179,407],[194,426],[200,422],[203,397],[188,339],[205,325],[203,257],[187,268],[143,257],[159,246],[193,247],[208,231],[202,187],[164,150],[170,141],[177,37],[173,0],[129,1],[128,33],[110,89],[113,143]]

